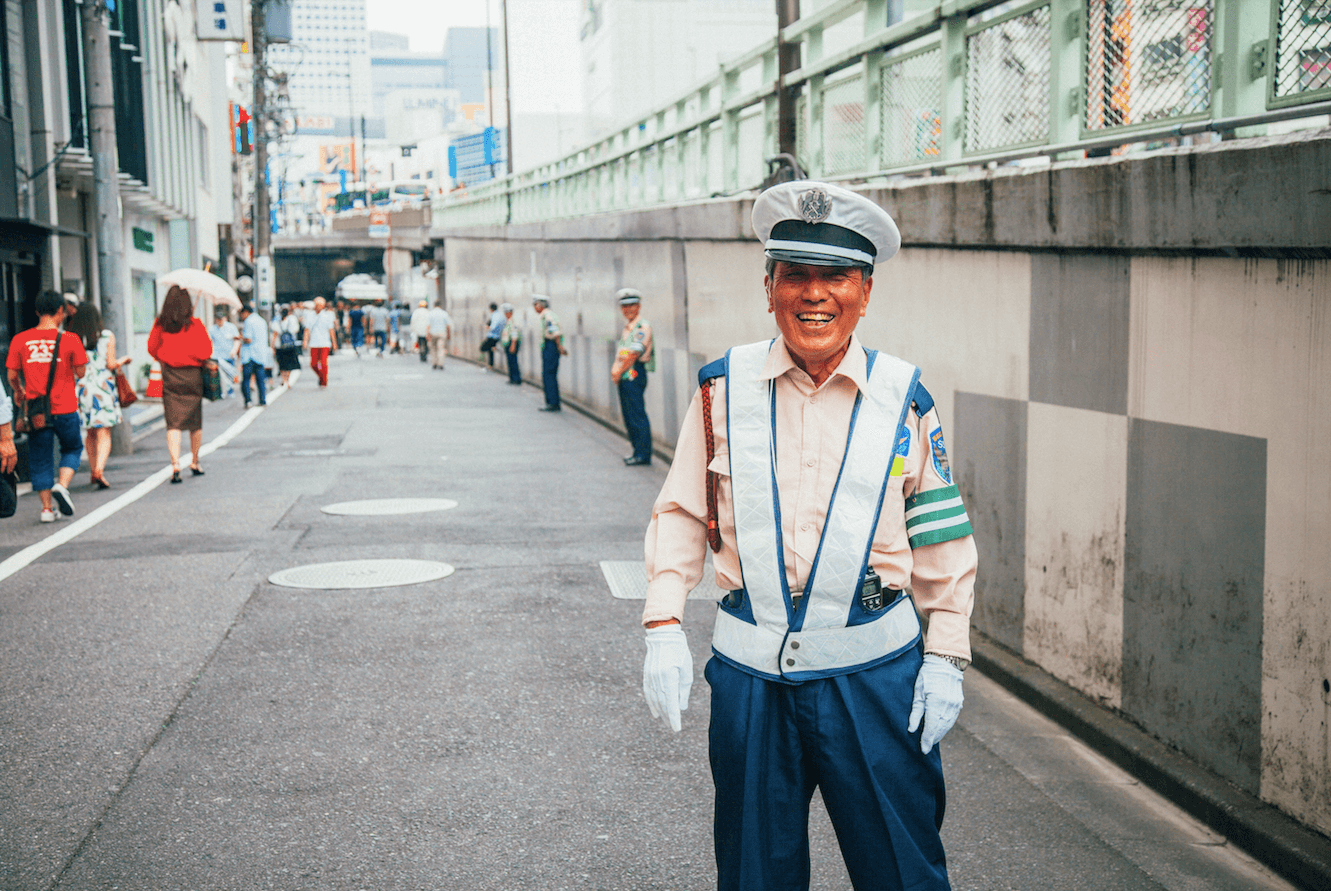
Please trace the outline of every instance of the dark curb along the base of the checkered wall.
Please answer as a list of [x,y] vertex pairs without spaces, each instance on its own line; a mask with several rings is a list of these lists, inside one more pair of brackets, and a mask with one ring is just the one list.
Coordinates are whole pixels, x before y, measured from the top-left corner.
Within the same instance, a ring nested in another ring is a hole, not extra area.
[[972,629],[974,666],[1294,884],[1331,888],[1331,839]]

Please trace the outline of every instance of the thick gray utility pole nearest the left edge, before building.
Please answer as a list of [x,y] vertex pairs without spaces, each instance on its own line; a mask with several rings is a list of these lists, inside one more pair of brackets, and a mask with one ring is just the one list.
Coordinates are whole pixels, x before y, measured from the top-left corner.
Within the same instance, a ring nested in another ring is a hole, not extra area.
[[[110,80],[110,12],[105,0],[84,0],[84,91],[88,103],[88,152],[92,154],[92,192],[97,206],[97,285],[101,324],[129,350],[125,310],[125,230],[120,220],[120,158],[116,156],[116,92]],[[110,429],[112,454],[134,450],[130,425]]]

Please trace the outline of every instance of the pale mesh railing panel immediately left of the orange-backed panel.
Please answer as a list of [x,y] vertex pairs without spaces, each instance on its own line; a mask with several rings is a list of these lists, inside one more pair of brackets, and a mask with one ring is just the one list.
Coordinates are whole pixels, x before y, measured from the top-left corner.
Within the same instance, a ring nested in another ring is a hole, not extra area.
[[1049,7],[966,37],[968,152],[1049,137]]

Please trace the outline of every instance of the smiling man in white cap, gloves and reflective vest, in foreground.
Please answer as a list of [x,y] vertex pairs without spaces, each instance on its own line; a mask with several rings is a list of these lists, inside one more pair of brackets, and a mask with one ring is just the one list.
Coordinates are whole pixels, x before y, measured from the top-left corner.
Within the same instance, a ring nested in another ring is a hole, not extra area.
[[699,374],[647,530],[643,691],[679,730],[680,619],[709,547],[731,591],[704,671],[717,887],[808,888],[819,788],[855,888],[949,888],[937,744],[961,710],[976,546],[920,370],[855,333],[901,238],[811,181],[759,196],[753,229],[780,336]]

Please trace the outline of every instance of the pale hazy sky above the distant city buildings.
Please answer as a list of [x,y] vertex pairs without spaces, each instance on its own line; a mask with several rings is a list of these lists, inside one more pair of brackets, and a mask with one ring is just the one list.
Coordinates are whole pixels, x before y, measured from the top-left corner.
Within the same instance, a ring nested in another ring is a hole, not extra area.
[[[488,5],[490,25],[499,28],[499,0]],[[514,112],[582,111],[580,16],[579,0],[508,0]],[[366,19],[370,31],[407,35],[413,52],[439,52],[450,27],[486,25],[486,0],[366,0]]]

